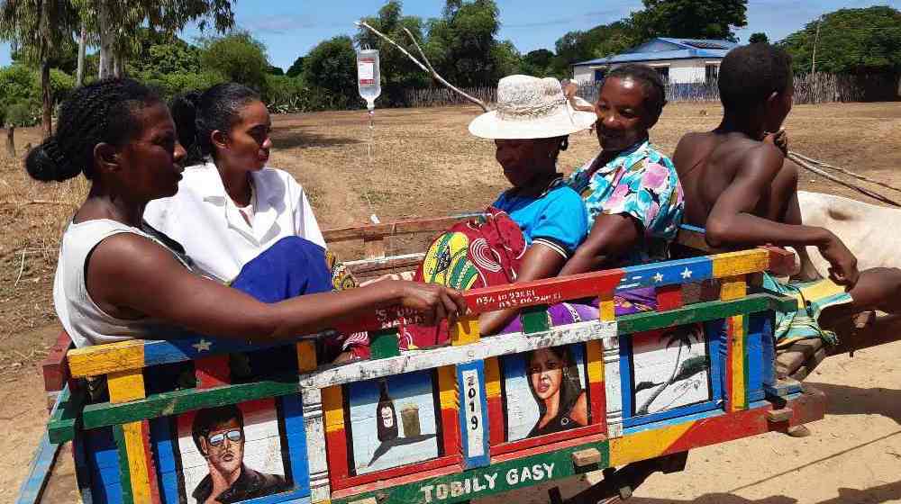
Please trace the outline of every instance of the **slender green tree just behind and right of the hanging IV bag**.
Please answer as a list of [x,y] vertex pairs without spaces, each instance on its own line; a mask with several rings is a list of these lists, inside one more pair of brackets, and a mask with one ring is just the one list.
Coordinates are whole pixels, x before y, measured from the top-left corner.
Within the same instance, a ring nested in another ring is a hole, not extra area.
[[[404,29],[413,33],[416,40],[423,40],[423,20],[403,15],[403,4],[398,0],[391,0],[378,9],[376,16],[365,17],[363,21],[400,44],[410,44],[410,37]],[[405,103],[405,89],[429,85],[430,78],[420,67],[372,31],[360,27],[354,40],[359,48],[378,49],[383,96],[380,102]],[[415,53],[415,49],[412,50]]]

